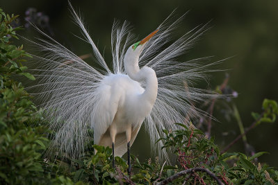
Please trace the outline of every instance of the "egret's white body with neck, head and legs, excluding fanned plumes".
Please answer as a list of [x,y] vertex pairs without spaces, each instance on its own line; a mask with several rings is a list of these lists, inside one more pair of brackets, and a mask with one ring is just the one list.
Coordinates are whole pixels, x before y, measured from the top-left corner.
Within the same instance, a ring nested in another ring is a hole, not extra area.
[[[155,33],[157,30],[155,31]],[[130,152],[144,119],[152,112],[156,101],[158,82],[156,73],[149,67],[139,69],[138,60],[143,46],[153,36],[129,47],[124,55],[127,75],[106,76],[99,85],[99,109],[95,116],[94,141],[101,146],[111,146],[114,157],[128,151],[129,173]],[[143,89],[139,82],[145,81]],[[98,113],[99,112],[99,113]]]

